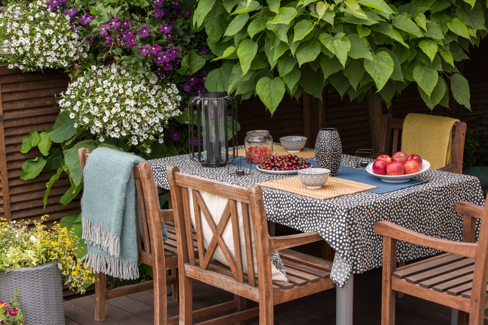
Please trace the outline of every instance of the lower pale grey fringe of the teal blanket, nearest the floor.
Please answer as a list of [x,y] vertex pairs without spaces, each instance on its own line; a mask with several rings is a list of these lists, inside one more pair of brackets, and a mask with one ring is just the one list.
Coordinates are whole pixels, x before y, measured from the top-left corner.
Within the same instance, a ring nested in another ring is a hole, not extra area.
[[139,279],[139,268],[137,267],[137,261],[121,261],[88,252],[85,260],[85,266],[91,268],[95,272],[102,272],[124,280]]

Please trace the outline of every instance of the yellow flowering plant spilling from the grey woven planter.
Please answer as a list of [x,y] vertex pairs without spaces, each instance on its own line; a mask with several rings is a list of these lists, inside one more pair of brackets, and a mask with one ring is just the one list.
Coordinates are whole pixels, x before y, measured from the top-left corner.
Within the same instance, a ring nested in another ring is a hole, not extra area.
[[0,272],[53,262],[61,269],[64,284],[83,293],[93,283],[93,274],[76,257],[79,238],[56,222],[48,229],[43,224],[47,217],[34,221],[33,227],[27,221],[0,218]]

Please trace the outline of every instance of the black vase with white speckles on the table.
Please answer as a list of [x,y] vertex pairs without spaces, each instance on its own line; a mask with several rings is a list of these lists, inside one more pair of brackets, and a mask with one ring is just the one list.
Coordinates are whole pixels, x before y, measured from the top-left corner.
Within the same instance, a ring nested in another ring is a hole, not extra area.
[[339,132],[334,128],[323,128],[315,141],[317,167],[330,170],[330,176],[337,175],[341,166],[342,144]]

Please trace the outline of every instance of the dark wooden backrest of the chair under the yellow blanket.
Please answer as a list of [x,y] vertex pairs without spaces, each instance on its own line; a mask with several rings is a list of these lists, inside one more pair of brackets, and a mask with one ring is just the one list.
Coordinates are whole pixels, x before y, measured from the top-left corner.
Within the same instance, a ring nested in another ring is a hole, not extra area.
[[[386,153],[391,155],[392,153],[400,151],[403,122],[404,119],[394,118],[391,114],[386,114],[383,116],[380,153]],[[455,123],[452,126],[451,135],[451,162],[447,166],[440,168],[440,170],[462,173],[464,141],[466,137],[466,123]]]

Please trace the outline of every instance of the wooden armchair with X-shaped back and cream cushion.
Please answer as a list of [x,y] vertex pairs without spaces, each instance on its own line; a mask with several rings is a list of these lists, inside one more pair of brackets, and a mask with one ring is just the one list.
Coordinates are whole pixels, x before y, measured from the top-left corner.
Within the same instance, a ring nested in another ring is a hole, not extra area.
[[[234,300],[229,303],[236,312],[205,324],[242,322],[259,315],[260,324],[270,325],[274,305],[335,287],[330,279],[331,262],[287,249],[323,240],[317,232],[269,237],[260,186],[225,184],[182,173],[176,166],[168,167],[168,180],[177,230],[180,324],[193,322],[192,279],[234,293]],[[220,206],[224,210],[222,216],[212,217],[213,208],[203,199],[206,195],[224,198],[227,203]],[[152,224],[157,224],[157,220]],[[211,229],[207,238],[204,236],[208,233],[203,233],[205,225]],[[196,257],[195,248],[188,245],[194,238],[191,229],[196,231]],[[231,230],[230,241],[224,240],[224,229]],[[204,240],[209,243],[206,248]],[[229,249],[230,243],[234,251]],[[213,261],[217,248],[222,249],[224,262],[230,267]],[[157,248],[153,250],[156,252]],[[271,252],[276,250],[280,251],[289,282],[272,280]],[[259,307],[245,309],[245,298],[258,302]]]

